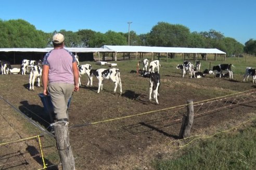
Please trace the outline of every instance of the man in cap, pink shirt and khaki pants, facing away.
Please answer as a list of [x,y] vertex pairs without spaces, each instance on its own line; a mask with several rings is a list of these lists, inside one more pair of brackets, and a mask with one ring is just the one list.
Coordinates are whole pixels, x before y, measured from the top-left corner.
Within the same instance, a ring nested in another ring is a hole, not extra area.
[[62,34],[55,34],[54,49],[43,60],[43,94],[50,94],[57,121],[68,121],[68,102],[73,91],[79,91],[78,66],[74,54],[64,49],[64,40]]

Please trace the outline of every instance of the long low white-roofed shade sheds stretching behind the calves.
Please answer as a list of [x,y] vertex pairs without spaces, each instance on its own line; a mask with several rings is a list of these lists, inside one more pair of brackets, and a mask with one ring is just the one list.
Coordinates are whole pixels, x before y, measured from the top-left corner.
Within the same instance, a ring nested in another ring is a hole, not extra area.
[[[0,60],[7,60],[11,64],[20,64],[23,59],[28,60],[42,60],[44,55],[53,48],[0,48]],[[112,59],[117,61],[117,53],[135,53],[143,56],[144,53],[151,53],[153,55],[165,53],[167,58],[170,54],[175,53],[184,54],[219,54],[225,55],[226,53],[218,49],[206,49],[206,48],[183,48],[183,47],[148,47],[148,46],[102,46],[101,48],[66,48],[67,50],[79,55],[79,60],[82,61],[94,61],[94,53],[98,55],[100,60],[100,53],[103,53],[103,60],[105,60],[105,54],[111,53]],[[114,56],[113,56],[114,54]]]

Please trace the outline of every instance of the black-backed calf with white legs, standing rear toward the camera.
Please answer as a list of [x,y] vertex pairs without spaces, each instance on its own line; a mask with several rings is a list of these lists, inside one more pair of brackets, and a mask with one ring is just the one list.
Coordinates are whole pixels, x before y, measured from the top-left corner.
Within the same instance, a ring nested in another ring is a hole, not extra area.
[[158,89],[160,86],[160,75],[158,73],[149,73],[150,78],[150,86],[149,86],[149,101],[151,101],[151,94],[153,91],[153,99],[156,99],[156,103],[158,103],[157,96],[158,96]]

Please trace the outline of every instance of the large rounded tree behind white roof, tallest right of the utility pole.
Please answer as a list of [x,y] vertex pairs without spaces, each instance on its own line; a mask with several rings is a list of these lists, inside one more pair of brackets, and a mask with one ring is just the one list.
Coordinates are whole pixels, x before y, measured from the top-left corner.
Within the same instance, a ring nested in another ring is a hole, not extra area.
[[190,31],[183,25],[159,22],[152,27],[148,43],[151,46],[187,47]]

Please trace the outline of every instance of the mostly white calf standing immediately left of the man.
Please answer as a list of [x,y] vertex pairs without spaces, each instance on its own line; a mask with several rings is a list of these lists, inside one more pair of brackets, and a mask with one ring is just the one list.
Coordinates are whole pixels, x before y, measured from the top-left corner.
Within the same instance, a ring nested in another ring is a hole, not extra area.
[[34,91],[34,82],[37,78],[37,87],[40,87],[40,79],[42,76],[42,67],[39,65],[31,65],[30,75],[29,75],[29,90]]

